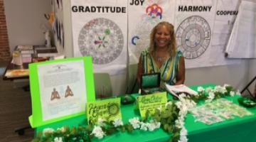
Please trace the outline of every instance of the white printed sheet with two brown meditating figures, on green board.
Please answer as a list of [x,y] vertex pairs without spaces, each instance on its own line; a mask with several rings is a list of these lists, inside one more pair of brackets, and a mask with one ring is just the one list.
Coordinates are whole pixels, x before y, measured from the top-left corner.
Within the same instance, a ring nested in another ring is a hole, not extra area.
[[85,110],[84,67],[82,60],[38,65],[43,121]]

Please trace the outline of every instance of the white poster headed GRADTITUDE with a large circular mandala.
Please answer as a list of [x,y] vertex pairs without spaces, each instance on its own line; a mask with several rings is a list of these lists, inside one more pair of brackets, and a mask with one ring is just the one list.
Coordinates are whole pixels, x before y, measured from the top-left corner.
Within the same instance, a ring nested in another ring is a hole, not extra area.
[[92,56],[95,72],[127,67],[127,1],[71,1],[73,55]]

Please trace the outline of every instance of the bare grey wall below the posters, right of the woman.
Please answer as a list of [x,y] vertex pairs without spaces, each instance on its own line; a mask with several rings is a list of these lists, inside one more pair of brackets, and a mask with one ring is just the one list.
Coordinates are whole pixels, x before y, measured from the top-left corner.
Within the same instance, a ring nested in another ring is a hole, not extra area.
[[248,80],[248,60],[241,60],[239,64],[222,65],[215,67],[200,67],[186,70],[185,84],[231,84],[237,89],[242,89]]

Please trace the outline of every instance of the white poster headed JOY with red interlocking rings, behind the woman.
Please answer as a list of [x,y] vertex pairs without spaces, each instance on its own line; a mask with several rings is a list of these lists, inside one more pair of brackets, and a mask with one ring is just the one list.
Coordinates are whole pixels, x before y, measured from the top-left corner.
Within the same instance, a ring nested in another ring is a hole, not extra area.
[[149,48],[151,29],[160,21],[174,23],[174,0],[128,1],[129,64],[139,61],[142,50]]

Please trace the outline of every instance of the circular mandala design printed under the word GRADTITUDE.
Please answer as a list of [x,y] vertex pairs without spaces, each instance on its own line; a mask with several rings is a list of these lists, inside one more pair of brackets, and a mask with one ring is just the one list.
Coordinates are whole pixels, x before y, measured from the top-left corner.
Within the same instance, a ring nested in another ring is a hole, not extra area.
[[112,62],[122,52],[124,36],[116,23],[107,18],[95,18],[82,27],[78,47],[83,56],[92,56],[97,65]]

